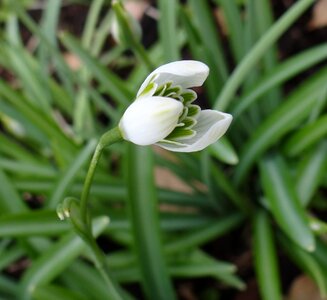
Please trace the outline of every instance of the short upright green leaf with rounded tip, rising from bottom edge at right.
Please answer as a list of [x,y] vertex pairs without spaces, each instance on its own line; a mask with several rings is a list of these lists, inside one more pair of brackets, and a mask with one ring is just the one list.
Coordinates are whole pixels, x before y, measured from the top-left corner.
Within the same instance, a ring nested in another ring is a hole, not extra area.
[[268,215],[258,211],[254,216],[254,261],[263,300],[281,300],[282,291],[273,231]]

